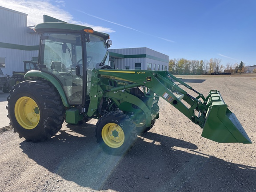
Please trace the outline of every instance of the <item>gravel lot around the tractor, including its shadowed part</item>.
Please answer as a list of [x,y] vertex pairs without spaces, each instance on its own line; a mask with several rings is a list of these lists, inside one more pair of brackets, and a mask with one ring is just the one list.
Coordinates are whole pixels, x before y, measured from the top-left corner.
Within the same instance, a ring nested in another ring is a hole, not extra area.
[[253,144],[207,140],[164,100],[155,126],[124,156],[99,148],[96,120],[64,124],[39,143],[5,127],[0,129],[0,192],[255,192],[256,75],[180,77],[205,96],[219,90]]

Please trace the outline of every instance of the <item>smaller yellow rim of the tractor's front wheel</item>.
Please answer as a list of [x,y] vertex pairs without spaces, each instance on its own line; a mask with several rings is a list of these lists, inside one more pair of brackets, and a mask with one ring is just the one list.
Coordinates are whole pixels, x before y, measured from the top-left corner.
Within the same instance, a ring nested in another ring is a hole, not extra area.
[[106,124],[102,129],[101,136],[104,143],[111,148],[119,148],[124,143],[124,131],[114,123]]

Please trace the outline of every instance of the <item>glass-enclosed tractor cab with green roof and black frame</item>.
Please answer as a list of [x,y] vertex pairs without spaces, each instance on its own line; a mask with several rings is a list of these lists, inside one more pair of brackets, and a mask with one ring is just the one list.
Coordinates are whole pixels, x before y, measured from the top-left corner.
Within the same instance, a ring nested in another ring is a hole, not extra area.
[[[108,34],[71,25],[44,23],[35,26],[35,31],[41,35],[38,66],[40,71],[59,81],[68,104],[80,105],[89,100],[92,70],[108,65],[110,40]],[[65,27],[69,28],[65,32],[57,29]]]

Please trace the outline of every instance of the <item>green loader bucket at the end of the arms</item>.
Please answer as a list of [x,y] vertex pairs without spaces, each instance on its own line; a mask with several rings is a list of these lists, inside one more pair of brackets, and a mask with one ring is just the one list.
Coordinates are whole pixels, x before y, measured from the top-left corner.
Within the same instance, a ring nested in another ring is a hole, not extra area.
[[224,103],[220,92],[212,90],[210,94],[202,136],[219,143],[251,144],[252,141],[235,114]]

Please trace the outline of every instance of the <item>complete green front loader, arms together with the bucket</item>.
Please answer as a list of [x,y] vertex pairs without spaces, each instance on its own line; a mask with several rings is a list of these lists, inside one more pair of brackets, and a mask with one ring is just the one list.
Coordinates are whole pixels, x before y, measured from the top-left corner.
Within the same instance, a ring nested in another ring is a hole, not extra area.
[[[195,92],[196,96],[188,94],[179,85]],[[147,104],[129,92],[129,89],[137,87],[149,90],[150,94],[144,92],[145,96],[152,97]],[[204,97],[167,71],[94,69],[89,116],[95,114],[102,97],[138,106],[146,114],[147,125],[150,125],[152,118],[158,118],[158,115],[152,116],[152,108],[153,103],[157,104],[158,98],[162,97],[193,123],[203,128],[203,137],[222,143],[252,143],[236,116],[228,110],[220,92],[211,90],[208,96]]]

